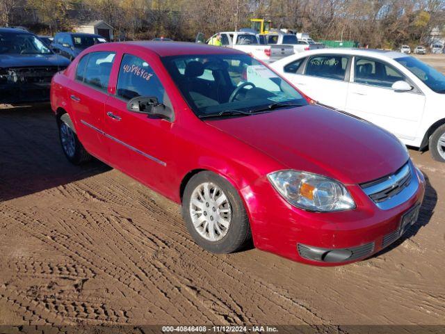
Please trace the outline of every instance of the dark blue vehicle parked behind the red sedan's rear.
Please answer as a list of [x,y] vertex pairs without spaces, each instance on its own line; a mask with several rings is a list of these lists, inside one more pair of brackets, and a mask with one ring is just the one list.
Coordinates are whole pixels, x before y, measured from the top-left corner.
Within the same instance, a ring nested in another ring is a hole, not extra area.
[[56,33],[51,49],[72,61],[87,47],[106,42],[101,35],[91,33]]

